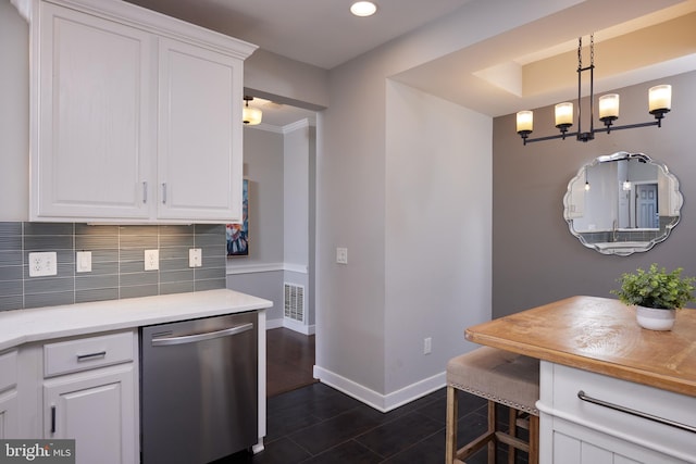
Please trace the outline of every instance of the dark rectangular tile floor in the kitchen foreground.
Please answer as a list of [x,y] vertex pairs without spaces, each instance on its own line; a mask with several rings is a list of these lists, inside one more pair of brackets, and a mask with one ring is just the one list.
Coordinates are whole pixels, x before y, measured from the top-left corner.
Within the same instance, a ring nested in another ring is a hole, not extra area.
[[[459,443],[485,429],[486,403],[460,393]],[[312,384],[268,401],[265,450],[240,452],[216,464],[409,463],[445,461],[446,390],[443,388],[388,413],[381,413],[323,384]],[[507,417],[500,411],[499,417]],[[526,462],[524,453],[519,462]],[[498,462],[507,463],[506,450]],[[483,451],[471,464],[486,463]]]

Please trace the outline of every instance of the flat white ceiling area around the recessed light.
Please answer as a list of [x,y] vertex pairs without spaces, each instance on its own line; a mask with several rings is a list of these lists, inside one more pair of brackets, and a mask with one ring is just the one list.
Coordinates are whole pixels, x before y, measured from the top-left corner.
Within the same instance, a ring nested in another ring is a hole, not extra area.
[[377,13],[356,17],[353,0],[128,0],[331,70],[471,0],[374,0]]

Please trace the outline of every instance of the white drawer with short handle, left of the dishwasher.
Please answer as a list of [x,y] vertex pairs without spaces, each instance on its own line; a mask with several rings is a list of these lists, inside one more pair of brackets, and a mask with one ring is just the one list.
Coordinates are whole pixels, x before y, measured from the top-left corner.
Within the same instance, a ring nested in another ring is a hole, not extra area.
[[44,374],[86,371],[133,361],[133,333],[102,335],[44,346]]

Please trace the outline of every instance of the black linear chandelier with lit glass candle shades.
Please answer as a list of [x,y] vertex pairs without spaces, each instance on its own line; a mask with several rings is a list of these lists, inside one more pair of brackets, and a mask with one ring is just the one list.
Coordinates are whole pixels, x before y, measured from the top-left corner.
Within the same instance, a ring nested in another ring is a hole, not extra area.
[[[534,127],[534,114],[531,111],[520,111],[517,114],[517,130],[522,137],[524,145],[554,139],[566,139],[566,137],[575,137],[580,141],[589,141],[595,138],[596,133],[610,134],[611,130],[633,129],[636,127],[658,126],[662,127],[662,118],[667,114],[672,104],[672,86],[660,85],[651,87],[648,91],[648,112],[655,116],[656,121],[639,124],[626,124],[623,126],[614,126],[613,122],[619,118],[619,95],[609,93],[599,97],[599,121],[605,127],[595,128],[595,105],[594,105],[594,70],[595,70],[595,40],[594,35],[589,36],[589,66],[583,67],[583,38],[577,38],[577,131],[569,133],[568,129],[573,125],[573,103],[563,102],[556,105],[556,127],[561,131],[555,136],[529,138]],[[582,129],[583,105],[581,100],[583,73],[589,71],[589,130]]]

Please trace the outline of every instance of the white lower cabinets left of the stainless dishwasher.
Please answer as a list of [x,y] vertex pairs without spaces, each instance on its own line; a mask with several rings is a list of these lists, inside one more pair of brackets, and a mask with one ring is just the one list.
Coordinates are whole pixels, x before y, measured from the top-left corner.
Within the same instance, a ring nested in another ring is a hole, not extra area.
[[137,354],[136,329],[20,347],[0,438],[74,439],[78,464],[139,462]]

